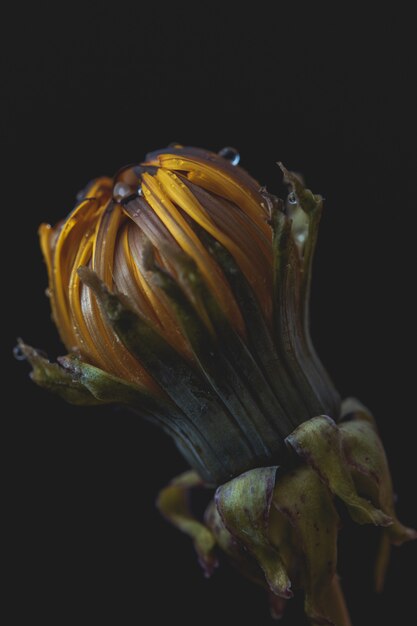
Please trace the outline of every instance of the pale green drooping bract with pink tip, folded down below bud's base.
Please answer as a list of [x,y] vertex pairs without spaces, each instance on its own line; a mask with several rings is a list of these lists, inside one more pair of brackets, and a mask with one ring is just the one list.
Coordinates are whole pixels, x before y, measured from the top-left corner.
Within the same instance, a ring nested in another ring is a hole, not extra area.
[[227,530],[256,559],[273,593],[290,598],[291,582],[268,535],[277,467],[250,470],[219,487],[215,501]]

